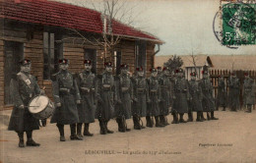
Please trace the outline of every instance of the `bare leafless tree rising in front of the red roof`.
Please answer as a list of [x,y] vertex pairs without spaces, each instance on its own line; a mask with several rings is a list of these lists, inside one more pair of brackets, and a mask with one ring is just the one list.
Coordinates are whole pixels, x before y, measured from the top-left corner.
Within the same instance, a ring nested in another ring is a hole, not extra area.
[[75,41],[75,39],[83,39],[82,44],[89,43],[99,46],[103,49],[103,61],[105,62],[107,57],[109,57],[111,61],[111,58],[114,56],[115,47],[120,43],[123,37],[122,34],[115,34],[113,32],[113,27],[121,22],[121,24],[130,26],[136,17],[133,13],[137,6],[129,6],[127,0],[86,0],[77,5],[85,8],[91,8],[101,13],[101,20],[103,24],[101,37],[95,36],[89,39],[80,30],[74,27],[68,29],[72,31],[73,34],[78,35],[79,38],[69,37],[65,39],[71,39],[73,41]]

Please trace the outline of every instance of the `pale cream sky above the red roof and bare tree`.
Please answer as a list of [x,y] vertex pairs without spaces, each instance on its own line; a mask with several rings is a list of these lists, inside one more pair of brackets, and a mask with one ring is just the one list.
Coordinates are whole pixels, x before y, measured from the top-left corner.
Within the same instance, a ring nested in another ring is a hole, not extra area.
[[[102,9],[102,0],[58,1]],[[219,0],[125,0],[120,4],[125,4],[120,13],[125,12],[129,16],[127,18],[132,18],[131,26],[150,32],[164,41],[158,56],[192,53],[256,55],[256,45],[230,49],[217,40],[213,22],[220,8]],[[123,21],[127,23],[127,20]]]

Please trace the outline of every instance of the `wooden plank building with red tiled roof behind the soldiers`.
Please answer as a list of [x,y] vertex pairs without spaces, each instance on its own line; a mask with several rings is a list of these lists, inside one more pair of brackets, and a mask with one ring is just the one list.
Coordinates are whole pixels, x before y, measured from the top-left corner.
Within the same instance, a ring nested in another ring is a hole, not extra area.
[[112,33],[120,41],[113,49],[115,55],[104,57],[104,48],[96,44],[104,32],[104,20],[94,10],[47,0],[0,0],[0,6],[1,110],[12,108],[10,81],[20,71],[18,62],[23,58],[32,60],[32,75],[51,97],[50,76],[58,71],[60,58],[70,60],[72,73],[83,70],[84,59],[92,59],[94,71],[100,74],[105,58],[115,68],[129,64],[131,73],[142,66],[149,75],[162,44],[152,34],[113,21]]

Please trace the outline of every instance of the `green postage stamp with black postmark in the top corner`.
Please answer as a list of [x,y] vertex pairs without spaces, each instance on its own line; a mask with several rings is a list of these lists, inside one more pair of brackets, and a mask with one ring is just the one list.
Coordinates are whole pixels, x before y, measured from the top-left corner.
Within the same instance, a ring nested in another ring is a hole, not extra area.
[[256,44],[256,4],[223,5],[224,45]]

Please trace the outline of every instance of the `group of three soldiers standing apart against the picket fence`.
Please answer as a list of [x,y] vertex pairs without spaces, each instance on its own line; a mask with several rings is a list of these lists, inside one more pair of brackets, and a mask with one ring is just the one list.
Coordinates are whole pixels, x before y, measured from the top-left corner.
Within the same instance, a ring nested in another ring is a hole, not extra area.
[[224,76],[219,76],[217,110],[219,110],[220,106],[224,108],[223,111],[225,111],[227,106],[231,111],[240,110],[240,96],[242,96],[245,111],[251,113],[255,105],[255,86],[255,81],[250,78],[247,72],[244,73],[242,86],[235,72],[231,73],[230,78],[227,80],[227,85],[224,82]]

